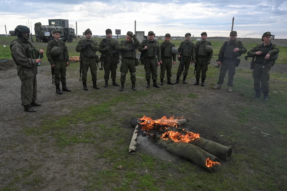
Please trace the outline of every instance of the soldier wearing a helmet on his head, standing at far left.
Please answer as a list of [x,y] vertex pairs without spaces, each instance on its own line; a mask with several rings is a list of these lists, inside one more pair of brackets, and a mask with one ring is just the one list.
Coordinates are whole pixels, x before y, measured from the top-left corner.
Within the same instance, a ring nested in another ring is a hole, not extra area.
[[28,41],[30,29],[24,25],[18,25],[15,28],[15,34],[18,37],[10,44],[12,58],[17,65],[17,73],[21,80],[21,105],[24,106],[26,112],[36,112],[32,106],[40,106],[36,103],[37,99],[37,64],[41,62],[38,59],[41,53],[43,58],[43,50],[37,50]]

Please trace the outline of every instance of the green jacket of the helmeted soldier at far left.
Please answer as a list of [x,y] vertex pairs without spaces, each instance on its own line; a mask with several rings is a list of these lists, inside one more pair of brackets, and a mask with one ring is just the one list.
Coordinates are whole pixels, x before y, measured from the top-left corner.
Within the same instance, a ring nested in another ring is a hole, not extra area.
[[[21,38],[18,39],[23,40]],[[27,58],[25,49],[21,46],[21,44],[19,44],[19,42],[13,41],[11,43],[11,46],[13,57],[19,64],[19,66],[17,66],[17,73],[19,78],[23,80],[37,75],[38,69],[36,60],[32,58]]]

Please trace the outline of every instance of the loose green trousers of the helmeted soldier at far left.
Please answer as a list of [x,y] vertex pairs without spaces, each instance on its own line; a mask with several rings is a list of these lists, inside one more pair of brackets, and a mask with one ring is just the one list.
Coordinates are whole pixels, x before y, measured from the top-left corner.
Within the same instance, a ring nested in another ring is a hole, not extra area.
[[37,75],[21,80],[21,105],[30,105],[37,99]]

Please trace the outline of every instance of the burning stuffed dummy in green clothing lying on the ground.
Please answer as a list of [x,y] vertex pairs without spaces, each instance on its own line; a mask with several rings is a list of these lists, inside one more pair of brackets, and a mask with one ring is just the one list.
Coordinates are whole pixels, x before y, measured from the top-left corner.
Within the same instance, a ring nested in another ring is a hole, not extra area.
[[226,147],[216,142],[201,138],[198,133],[193,133],[180,128],[186,119],[167,118],[153,120],[143,116],[136,119],[135,131],[130,143],[129,153],[135,153],[136,137],[138,134],[148,136],[154,143],[164,147],[168,152],[190,160],[210,171],[220,168],[220,159],[228,160],[231,156],[231,147]]

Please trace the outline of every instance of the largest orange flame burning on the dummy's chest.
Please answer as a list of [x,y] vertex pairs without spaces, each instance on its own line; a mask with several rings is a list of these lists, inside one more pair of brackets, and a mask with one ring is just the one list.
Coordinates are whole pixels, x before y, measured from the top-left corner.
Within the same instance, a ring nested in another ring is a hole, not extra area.
[[178,122],[177,119],[174,119],[174,116],[170,116],[170,118],[163,116],[162,118],[157,119],[157,120],[153,120],[150,117],[143,116],[143,118],[140,118],[140,120],[142,120],[142,122],[140,123],[141,127],[146,131],[149,131],[150,129],[157,127],[157,125],[177,127],[177,122]]

